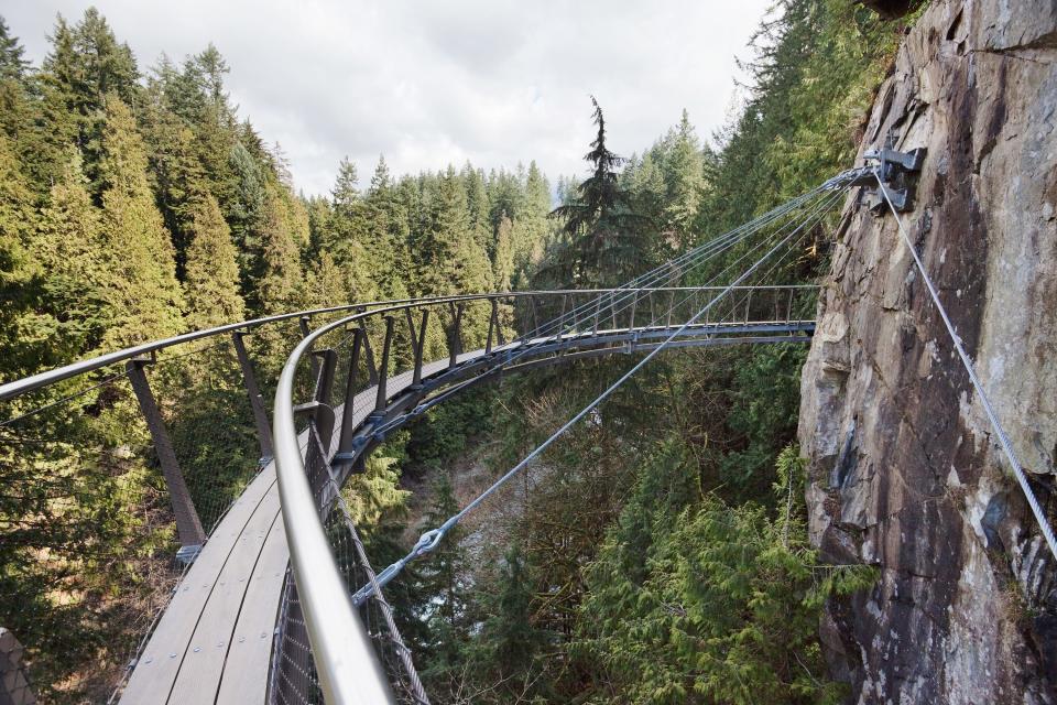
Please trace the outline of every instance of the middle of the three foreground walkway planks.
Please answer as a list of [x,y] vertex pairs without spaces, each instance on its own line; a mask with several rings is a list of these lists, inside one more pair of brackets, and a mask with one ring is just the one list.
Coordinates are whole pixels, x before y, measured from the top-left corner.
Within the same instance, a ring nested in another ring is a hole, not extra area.
[[[279,492],[271,491],[258,505],[239,545],[224,564],[217,583],[184,648],[183,663],[173,684],[170,703],[211,705],[217,696],[231,633],[242,610],[247,589],[279,518]],[[274,622],[273,622],[274,623]]]

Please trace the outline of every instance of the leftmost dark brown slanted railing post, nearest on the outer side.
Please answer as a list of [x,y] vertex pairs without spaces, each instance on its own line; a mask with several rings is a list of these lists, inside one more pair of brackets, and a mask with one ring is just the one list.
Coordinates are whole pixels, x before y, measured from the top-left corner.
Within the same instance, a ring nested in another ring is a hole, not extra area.
[[168,432],[165,431],[165,422],[157,409],[157,402],[151,391],[151,386],[146,381],[146,372],[143,371],[143,368],[152,361],[152,359],[144,358],[132,359],[126,362],[124,369],[129,373],[132,391],[135,393],[137,401],[140,402],[140,411],[143,412],[146,427],[154,441],[154,452],[157,454],[159,464],[162,466],[162,475],[165,478],[168,497],[173,503],[176,533],[182,546],[177,556],[189,562],[194,560],[201,544],[206,542],[206,532],[201,528],[201,520],[198,519],[198,512],[195,510],[195,502],[190,498],[187,482],[184,481],[184,474],[179,470],[176,453],[173,451]]

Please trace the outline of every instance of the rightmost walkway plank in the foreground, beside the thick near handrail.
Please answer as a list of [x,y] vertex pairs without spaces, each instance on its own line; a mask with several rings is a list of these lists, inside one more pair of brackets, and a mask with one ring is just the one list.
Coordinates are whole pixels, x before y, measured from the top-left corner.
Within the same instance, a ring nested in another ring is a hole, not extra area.
[[283,576],[288,561],[286,532],[280,513],[272,524],[253,579],[246,590],[220,679],[217,694],[219,705],[264,702]]

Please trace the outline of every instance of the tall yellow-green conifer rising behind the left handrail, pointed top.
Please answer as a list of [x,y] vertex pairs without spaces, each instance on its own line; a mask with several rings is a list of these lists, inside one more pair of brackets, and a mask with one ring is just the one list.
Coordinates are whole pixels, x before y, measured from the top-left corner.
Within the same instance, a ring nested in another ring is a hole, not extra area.
[[154,205],[146,166],[132,113],[111,96],[99,164],[103,234],[116,274],[107,291],[116,312],[102,339],[108,349],[175,335],[182,327],[173,243]]

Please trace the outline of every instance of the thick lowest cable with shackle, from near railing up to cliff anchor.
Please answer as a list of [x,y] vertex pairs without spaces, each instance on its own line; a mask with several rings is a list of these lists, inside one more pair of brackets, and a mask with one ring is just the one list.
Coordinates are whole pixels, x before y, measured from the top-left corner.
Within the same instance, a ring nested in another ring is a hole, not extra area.
[[[610,384],[601,394],[599,394],[595,400],[584,406],[579,412],[576,413],[571,419],[569,419],[562,427],[555,431],[546,441],[536,446],[531,453],[528,453],[521,462],[514,465],[510,470],[508,470],[502,477],[500,477],[495,482],[493,482],[488,489],[481,492],[476,497],[469,505],[464,507],[457,513],[448,518],[442,525],[432,529],[425,532],[417,541],[415,546],[411,550],[407,555],[400,558],[380,574],[378,574],[377,579],[372,582],[370,586],[361,588],[352,596],[353,605],[362,605],[367,601],[372,594],[377,593],[381,587],[385,586],[393,578],[395,578],[411,562],[414,560],[426,555],[434,551],[444,536],[455,528],[467,514],[477,509],[481,503],[483,503],[489,497],[494,495],[503,485],[505,485],[511,478],[517,475],[523,470],[530,463],[537,458],[544,451],[546,451],[555,441],[565,435],[573,426],[580,422],[585,416],[591,413],[597,409],[603,401],[606,401],[610,395],[613,394],[624,382],[631,379],[639,370],[645,367],[654,357],[656,357],[663,349],[665,349],[671,343],[673,343],[682,333],[687,328],[693,326],[697,321],[699,321],[709,310],[711,310],[719,301],[721,301],[730,291],[732,291],[739,284],[745,282],[753,274],[758,273],[759,270],[774,258],[775,254],[782,252],[783,250],[793,251],[796,243],[799,242],[803,237],[810,230],[811,227],[819,224],[821,219],[826,216],[827,213],[841,199],[842,193],[831,194],[828,197],[824,198],[821,204],[817,205],[815,208],[810,209],[808,215],[799,220],[799,223],[792,228],[787,234],[785,234],[781,239],[773,245],[766,252],[764,252],[759,259],[756,259],[751,265],[749,265],[744,271],[738,274],[726,288],[708,303],[706,303],[697,313],[695,313],[686,323],[682,324],[675,332],[668,335],[658,346],[651,350],[645,357],[643,357],[639,362],[636,362],[630,370],[624,372],[615,382]],[[764,241],[766,242],[766,241]],[[762,245],[762,243],[761,243]],[[759,249],[760,246],[756,246],[750,252]],[[739,258],[734,264],[744,259],[749,252]],[[732,267],[732,265],[730,265]],[[729,269],[728,267],[727,269]],[[772,267],[773,269],[773,267]],[[726,271],[726,270],[724,270]]]

